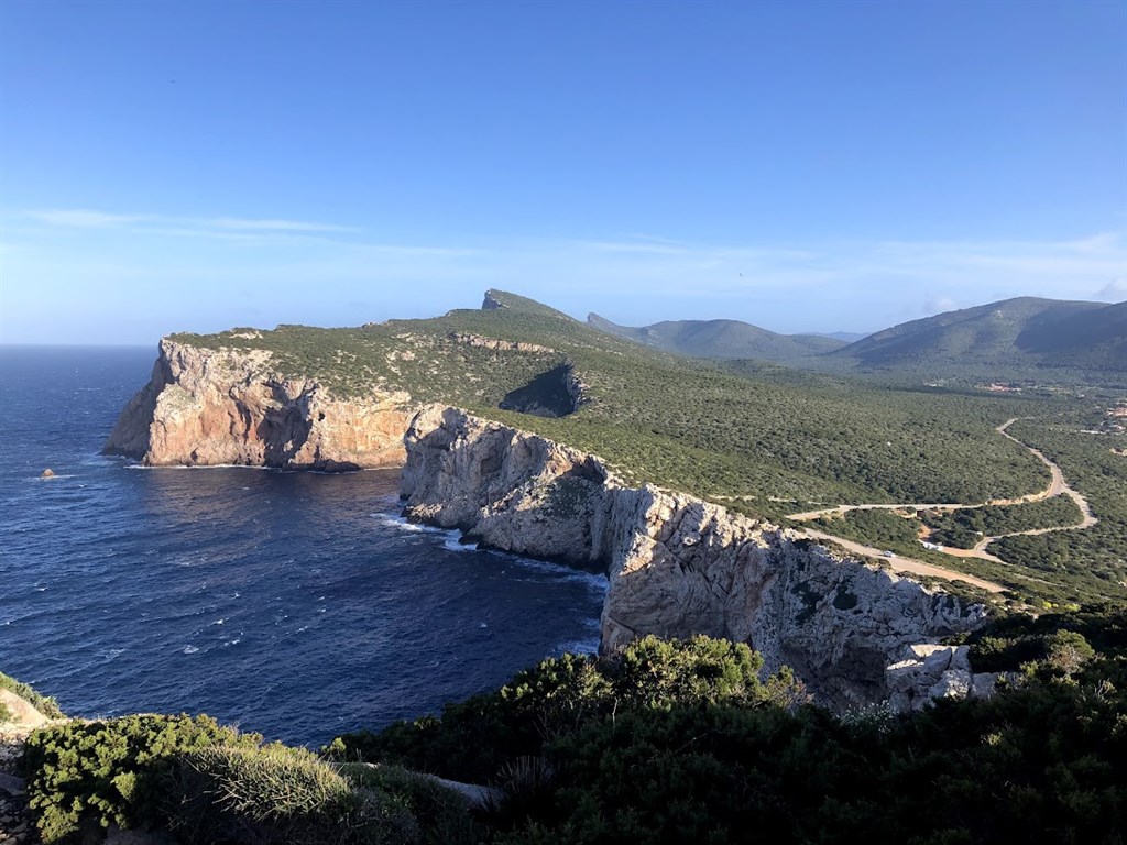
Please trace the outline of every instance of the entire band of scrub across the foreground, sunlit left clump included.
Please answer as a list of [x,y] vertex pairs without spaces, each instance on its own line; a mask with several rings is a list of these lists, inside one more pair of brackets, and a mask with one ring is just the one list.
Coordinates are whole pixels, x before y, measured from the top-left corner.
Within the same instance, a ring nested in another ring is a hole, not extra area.
[[[761,681],[746,646],[700,637],[545,660],[329,759],[206,718],[56,726],[28,747],[32,806],[48,843],[118,824],[185,845],[1124,845],[1127,614],[968,642],[1018,683],[905,715],[809,706],[789,673]],[[471,810],[407,770],[490,789]]]

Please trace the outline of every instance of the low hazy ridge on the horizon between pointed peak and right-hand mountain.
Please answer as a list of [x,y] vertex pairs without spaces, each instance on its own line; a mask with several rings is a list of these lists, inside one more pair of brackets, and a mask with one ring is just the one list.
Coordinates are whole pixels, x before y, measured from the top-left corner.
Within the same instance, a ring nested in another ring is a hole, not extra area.
[[779,335],[739,320],[666,320],[651,326],[619,326],[596,313],[587,324],[609,335],[695,358],[756,358],[796,362],[845,346],[824,335]]

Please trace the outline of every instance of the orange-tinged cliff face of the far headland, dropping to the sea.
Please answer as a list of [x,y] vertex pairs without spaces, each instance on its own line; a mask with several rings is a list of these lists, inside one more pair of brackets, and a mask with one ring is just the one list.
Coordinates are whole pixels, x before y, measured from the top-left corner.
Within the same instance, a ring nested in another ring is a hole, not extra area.
[[282,377],[268,352],[165,339],[105,451],[153,466],[398,466],[409,401],[406,393],[336,399],[316,381]]

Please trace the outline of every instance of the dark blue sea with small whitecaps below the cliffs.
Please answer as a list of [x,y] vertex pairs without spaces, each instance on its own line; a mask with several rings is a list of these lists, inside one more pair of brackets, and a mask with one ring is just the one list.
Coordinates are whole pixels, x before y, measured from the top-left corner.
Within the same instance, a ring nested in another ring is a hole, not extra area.
[[0,347],[0,670],[74,715],[319,745],[596,648],[601,576],[407,524],[398,471],[100,455],[154,358]]

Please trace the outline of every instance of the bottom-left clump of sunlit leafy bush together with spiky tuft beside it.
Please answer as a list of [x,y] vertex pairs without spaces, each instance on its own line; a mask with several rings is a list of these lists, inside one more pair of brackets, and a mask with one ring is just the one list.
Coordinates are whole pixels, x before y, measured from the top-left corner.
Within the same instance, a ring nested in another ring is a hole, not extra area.
[[[28,739],[24,768],[45,843],[79,842],[110,825],[168,828],[187,845],[456,843],[447,833],[459,828],[447,817],[467,818],[459,795],[408,788],[410,775],[392,791],[387,779],[356,770],[349,777],[309,751],[263,745],[208,717],[131,715],[44,729]],[[446,827],[437,838],[436,826],[415,811],[440,818],[440,804]]]

